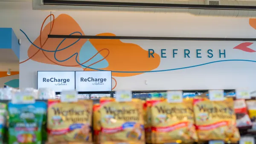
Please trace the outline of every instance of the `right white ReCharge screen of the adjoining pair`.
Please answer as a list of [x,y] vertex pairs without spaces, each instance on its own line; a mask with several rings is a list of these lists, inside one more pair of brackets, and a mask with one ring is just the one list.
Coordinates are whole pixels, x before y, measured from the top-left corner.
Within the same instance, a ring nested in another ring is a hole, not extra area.
[[103,92],[111,89],[111,71],[76,71],[76,91]]

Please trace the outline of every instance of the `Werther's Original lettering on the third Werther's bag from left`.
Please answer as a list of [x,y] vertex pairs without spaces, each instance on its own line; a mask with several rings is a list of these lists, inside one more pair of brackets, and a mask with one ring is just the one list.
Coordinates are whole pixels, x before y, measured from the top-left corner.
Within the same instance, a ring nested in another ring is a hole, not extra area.
[[168,115],[169,118],[176,117],[179,120],[182,120],[184,118],[188,118],[189,120],[194,120],[194,113],[193,109],[186,107],[166,107],[166,106],[155,106],[158,113],[163,113]]

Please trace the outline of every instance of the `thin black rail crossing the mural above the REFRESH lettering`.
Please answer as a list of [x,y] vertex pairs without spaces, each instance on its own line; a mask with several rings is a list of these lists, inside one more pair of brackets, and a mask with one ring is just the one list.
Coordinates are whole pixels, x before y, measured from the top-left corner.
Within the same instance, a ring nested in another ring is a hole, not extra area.
[[95,35],[48,35],[48,38],[119,39],[119,40],[200,40],[200,41],[256,41],[256,38],[222,37],[140,37],[140,36],[95,36]]

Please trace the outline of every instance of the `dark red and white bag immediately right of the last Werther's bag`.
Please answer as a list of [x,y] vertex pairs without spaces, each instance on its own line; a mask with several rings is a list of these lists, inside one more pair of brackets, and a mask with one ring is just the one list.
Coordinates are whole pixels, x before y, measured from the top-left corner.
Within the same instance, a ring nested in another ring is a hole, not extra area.
[[236,127],[247,128],[252,126],[252,122],[247,112],[244,99],[235,100],[234,108],[236,112]]

